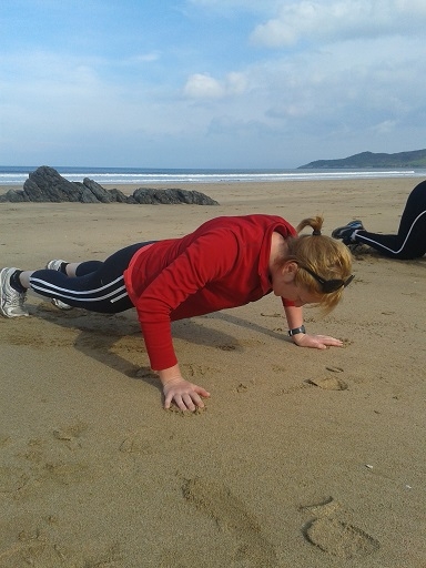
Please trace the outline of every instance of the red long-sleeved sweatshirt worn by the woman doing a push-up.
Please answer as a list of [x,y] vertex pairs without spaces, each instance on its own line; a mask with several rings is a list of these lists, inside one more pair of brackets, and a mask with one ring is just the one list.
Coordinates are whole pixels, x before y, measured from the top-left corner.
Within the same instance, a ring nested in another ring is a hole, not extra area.
[[[221,216],[181,239],[142,247],[124,272],[151,367],[178,363],[171,322],[237,307],[272,291],[272,233],[296,236],[276,215]],[[284,305],[292,305],[283,298]]]

